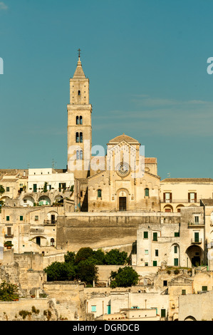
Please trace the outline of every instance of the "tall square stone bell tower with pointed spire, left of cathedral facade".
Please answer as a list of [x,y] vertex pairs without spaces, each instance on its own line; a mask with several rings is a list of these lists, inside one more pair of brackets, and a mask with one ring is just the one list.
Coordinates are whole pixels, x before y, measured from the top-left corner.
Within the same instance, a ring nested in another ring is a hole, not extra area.
[[68,110],[68,172],[84,179],[90,176],[92,148],[92,105],[89,102],[89,79],[85,77],[80,61],[70,79],[70,103]]

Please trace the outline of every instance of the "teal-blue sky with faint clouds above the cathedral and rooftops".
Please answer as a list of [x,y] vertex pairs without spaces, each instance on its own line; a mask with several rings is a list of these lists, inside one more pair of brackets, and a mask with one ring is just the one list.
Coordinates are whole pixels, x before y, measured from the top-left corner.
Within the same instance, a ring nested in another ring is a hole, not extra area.
[[0,0],[0,168],[66,168],[69,78],[90,78],[93,145],[126,133],[160,177],[213,177],[213,3]]

